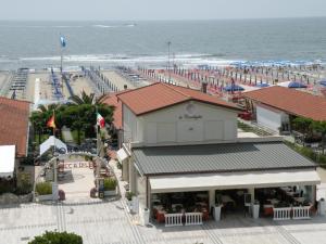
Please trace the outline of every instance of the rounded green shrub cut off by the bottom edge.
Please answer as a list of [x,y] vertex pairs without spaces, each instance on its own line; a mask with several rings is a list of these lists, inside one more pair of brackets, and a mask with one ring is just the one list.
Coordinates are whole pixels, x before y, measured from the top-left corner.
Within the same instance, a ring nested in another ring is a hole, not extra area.
[[67,232],[51,232],[35,236],[28,244],[83,244],[82,236]]

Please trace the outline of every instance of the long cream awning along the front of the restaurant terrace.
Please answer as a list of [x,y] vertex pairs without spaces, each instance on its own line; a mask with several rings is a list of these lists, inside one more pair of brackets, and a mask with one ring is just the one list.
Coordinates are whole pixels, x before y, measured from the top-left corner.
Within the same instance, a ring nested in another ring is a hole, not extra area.
[[151,193],[205,191],[210,189],[314,185],[321,179],[314,169],[150,177]]

